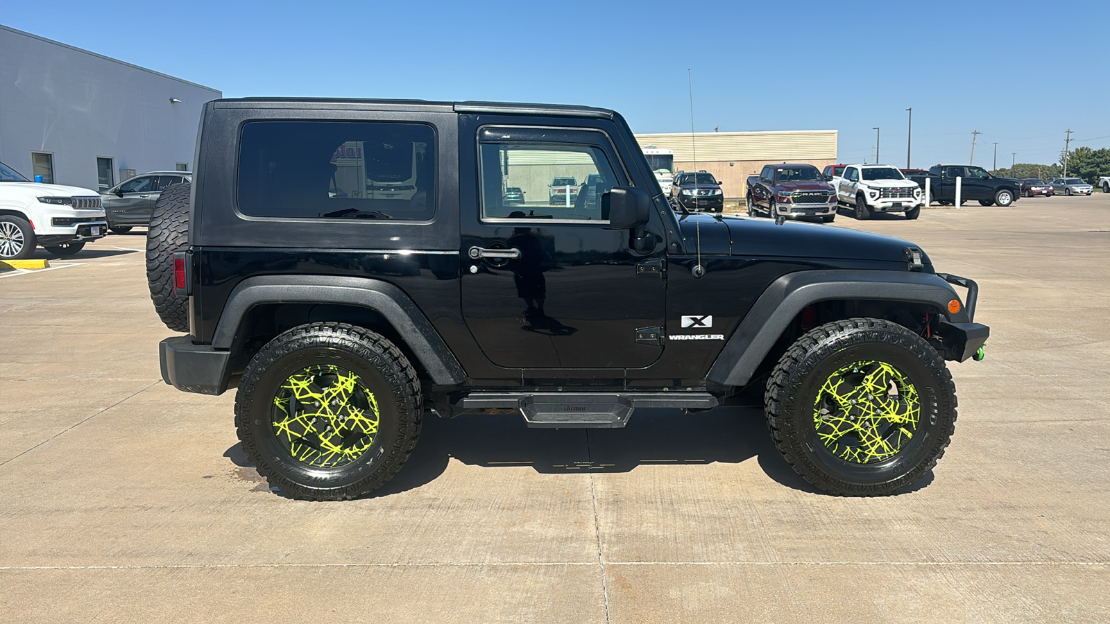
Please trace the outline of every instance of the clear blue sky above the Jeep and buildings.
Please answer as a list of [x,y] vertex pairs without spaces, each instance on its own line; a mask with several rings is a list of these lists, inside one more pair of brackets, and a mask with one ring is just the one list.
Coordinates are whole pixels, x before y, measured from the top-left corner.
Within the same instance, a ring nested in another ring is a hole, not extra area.
[[838,130],[839,160],[1110,147],[1110,1],[37,2],[0,22],[224,97],[565,102],[636,132]]

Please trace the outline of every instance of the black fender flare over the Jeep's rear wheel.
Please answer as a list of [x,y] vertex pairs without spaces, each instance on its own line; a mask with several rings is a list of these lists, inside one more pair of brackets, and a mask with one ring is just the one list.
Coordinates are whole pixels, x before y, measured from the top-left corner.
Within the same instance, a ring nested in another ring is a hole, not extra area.
[[466,372],[427,316],[400,288],[381,280],[341,275],[259,275],[228,296],[212,346],[230,350],[252,308],[265,303],[336,303],[373,310],[404,339],[437,385],[458,385]]

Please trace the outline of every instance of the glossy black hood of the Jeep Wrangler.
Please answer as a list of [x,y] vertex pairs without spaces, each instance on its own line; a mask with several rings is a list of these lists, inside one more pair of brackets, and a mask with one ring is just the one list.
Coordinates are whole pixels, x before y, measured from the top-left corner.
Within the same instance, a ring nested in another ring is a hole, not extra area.
[[[694,250],[700,230],[702,253],[745,256],[813,258],[828,260],[878,260],[906,262],[909,241],[834,225],[769,219],[692,214],[678,222],[687,253]],[[922,262],[930,264],[922,251]]]

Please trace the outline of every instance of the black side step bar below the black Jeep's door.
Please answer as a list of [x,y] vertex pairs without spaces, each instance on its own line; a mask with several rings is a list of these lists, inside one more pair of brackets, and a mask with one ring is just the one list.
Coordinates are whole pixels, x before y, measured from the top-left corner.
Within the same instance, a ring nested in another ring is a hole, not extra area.
[[454,404],[460,411],[517,410],[528,426],[547,429],[622,427],[636,407],[716,406],[707,392],[476,392]]

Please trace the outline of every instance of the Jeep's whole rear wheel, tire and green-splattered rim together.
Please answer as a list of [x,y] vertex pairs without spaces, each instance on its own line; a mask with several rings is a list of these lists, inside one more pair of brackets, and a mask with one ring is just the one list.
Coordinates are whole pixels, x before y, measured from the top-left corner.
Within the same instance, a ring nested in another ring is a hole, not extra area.
[[270,485],[310,501],[350,500],[393,477],[421,429],[421,384],[381,334],[311,323],[271,340],[243,373],[235,426]]

